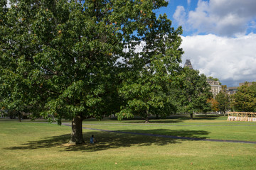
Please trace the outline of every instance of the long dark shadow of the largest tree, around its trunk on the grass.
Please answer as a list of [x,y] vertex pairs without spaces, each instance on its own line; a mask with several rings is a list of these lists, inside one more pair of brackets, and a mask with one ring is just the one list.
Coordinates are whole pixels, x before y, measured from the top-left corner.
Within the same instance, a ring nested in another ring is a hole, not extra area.
[[[168,129],[157,129],[157,130],[122,130],[105,132],[100,130],[84,132],[84,145],[68,145],[70,140],[70,134],[45,137],[42,140],[28,141],[18,147],[7,147],[5,149],[42,149],[50,147],[59,147],[60,152],[65,151],[82,151],[82,152],[95,152],[100,150],[107,150],[119,147],[142,147],[158,145],[164,146],[169,144],[181,143],[183,140],[188,139],[176,139],[171,136],[180,137],[191,137],[200,138],[203,135],[208,135],[209,132],[204,130],[168,130]],[[90,144],[90,136],[94,135],[97,142]],[[191,139],[193,140],[193,139]]]

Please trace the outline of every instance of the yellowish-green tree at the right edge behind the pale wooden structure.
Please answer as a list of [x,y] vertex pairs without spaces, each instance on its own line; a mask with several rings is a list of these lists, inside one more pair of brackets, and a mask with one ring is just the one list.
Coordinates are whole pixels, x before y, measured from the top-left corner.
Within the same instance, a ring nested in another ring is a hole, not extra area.
[[232,99],[232,105],[235,111],[255,112],[256,82],[252,82],[251,86],[245,82],[245,85],[238,87],[238,91],[232,96]]

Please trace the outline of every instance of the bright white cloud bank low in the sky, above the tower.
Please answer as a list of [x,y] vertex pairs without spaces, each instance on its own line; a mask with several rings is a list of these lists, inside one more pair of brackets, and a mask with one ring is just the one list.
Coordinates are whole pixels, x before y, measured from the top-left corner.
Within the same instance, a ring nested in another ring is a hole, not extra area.
[[256,81],[256,34],[238,38],[209,34],[182,39],[183,62],[190,59],[193,68],[207,77],[216,77],[228,86]]

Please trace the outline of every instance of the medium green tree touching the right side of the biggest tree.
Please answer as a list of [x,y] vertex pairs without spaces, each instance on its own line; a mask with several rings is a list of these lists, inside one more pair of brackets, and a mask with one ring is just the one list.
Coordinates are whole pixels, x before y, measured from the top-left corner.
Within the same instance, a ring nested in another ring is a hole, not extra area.
[[174,30],[167,16],[149,18],[150,24],[143,33],[142,51],[129,49],[127,71],[120,77],[124,80],[119,94],[126,101],[119,118],[140,115],[149,123],[149,115],[166,116],[176,112],[169,86],[178,79],[178,64],[183,54],[182,30]]

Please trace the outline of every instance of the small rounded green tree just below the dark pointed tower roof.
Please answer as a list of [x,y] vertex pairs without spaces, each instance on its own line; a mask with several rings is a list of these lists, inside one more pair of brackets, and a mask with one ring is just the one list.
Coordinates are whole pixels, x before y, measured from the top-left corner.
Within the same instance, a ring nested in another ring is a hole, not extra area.
[[210,85],[206,82],[206,76],[199,74],[198,70],[183,68],[183,84],[181,87],[180,97],[181,111],[189,113],[193,119],[193,112],[206,113],[210,110],[208,98],[212,98]]

